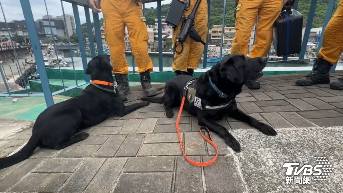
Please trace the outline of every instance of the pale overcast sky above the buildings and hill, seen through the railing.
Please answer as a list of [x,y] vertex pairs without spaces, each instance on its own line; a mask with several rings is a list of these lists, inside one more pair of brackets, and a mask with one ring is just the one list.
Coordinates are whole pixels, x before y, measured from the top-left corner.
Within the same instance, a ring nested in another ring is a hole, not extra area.
[[[171,0],[162,1],[162,4],[170,3],[170,1]],[[12,20],[24,20],[24,15],[23,15],[23,11],[22,11],[19,0],[0,0],[0,2],[2,4],[2,8],[4,10],[7,22],[10,22]],[[46,0],[46,3],[47,3],[49,15],[60,16],[63,14],[60,0]],[[30,0],[30,4],[31,4],[31,9],[33,12],[34,20],[42,19],[43,15],[47,15],[44,0]],[[63,2],[63,7],[64,7],[64,12],[66,14],[74,15],[71,3]],[[156,2],[146,3],[145,7],[146,8],[150,8],[150,7],[156,8],[157,3]],[[86,22],[85,12],[84,12],[84,8],[81,6],[79,6],[79,14],[80,14],[81,24],[85,23]],[[91,9],[90,9],[90,14],[91,14],[91,20],[93,22]],[[99,17],[100,18],[103,17],[102,13],[100,13]],[[5,21],[3,18],[2,12],[0,15],[0,21]]]

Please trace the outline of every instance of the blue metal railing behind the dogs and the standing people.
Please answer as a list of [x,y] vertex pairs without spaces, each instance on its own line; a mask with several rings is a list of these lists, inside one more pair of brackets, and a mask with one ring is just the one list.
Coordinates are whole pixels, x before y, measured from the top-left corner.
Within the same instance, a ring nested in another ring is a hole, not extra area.
[[[74,13],[74,20],[75,20],[75,25],[76,25],[76,33],[78,35],[79,48],[80,48],[80,52],[81,52],[82,66],[83,66],[83,70],[85,71],[85,69],[87,67],[87,58],[86,58],[84,37],[82,34],[82,30],[81,30],[82,28],[81,28],[80,15],[79,15],[79,8],[78,7],[79,6],[83,7],[83,9],[85,11],[87,33],[88,33],[88,37],[89,37],[88,40],[89,40],[89,44],[90,44],[90,50],[91,50],[92,57],[94,57],[96,55],[95,41],[96,41],[96,47],[97,47],[98,54],[104,54],[103,42],[102,42],[101,30],[100,30],[99,14],[93,12],[93,22],[94,22],[93,24],[94,24],[94,32],[95,32],[95,39],[94,39],[93,32],[92,32],[91,15],[89,13],[91,8],[90,8],[89,4],[87,4],[88,1],[85,0],[84,1],[85,3],[81,3],[81,4],[77,3],[73,0],[60,0],[60,1],[61,1],[63,16],[64,16],[64,18],[63,18],[64,23],[66,23],[66,16],[64,14],[63,3],[71,3],[71,5],[72,5],[73,13]],[[317,1],[318,0],[312,0],[311,1],[311,6],[310,6],[310,10],[309,10],[308,19],[307,19],[307,25],[306,25],[306,29],[305,29],[303,42],[302,42],[301,52],[299,53],[299,60],[304,59],[304,57],[305,57],[306,46],[307,46],[308,38],[310,35],[312,22],[314,20]],[[79,0],[78,2],[81,2],[81,1]],[[163,71],[162,0],[149,0],[149,1],[142,0],[142,2],[143,2],[143,15],[145,15],[145,2],[157,2],[157,24],[158,24],[157,31],[158,31],[158,40],[159,40],[158,41],[158,63],[159,63],[158,66],[159,66],[159,71]],[[210,23],[211,0],[207,0],[207,2],[208,2],[208,22]],[[297,9],[298,2],[299,2],[299,0],[296,0],[296,3],[294,5],[294,9]],[[0,66],[0,74],[3,77],[2,82],[3,82],[3,85],[5,87],[5,90],[7,91],[5,93],[0,93],[0,97],[1,96],[44,96],[47,106],[51,106],[52,104],[54,104],[54,100],[52,99],[52,96],[54,96],[56,94],[60,94],[60,93],[65,92],[65,91],[68,91],[68,90],[71,90],[71,89],[74,89],[76,87],[82,86],[82,85],[90,82],[90,77],[84,73],[85,82],[82,82],[82,83],[78,82],[77,77],[76,77],[76,72],[75,72],[74,60],[73,60],[73,57],[71,56],[76,85],[72,86],[72,87],[66,87],[65,86],[63,76],[62,76],[62,72],[61,72],[61,68],[59,67],[63,89],[56,91],[56,92],[51,91],[50,84],[49,84],[49,78],[48,78],[47,71],[46,71],[45,64],[44,64],[42,48],[41,48],[40,43],[39,43],[39,38],[37,35],[37,30],[35,27],[35,22],[34,22],[30,2],[29,2],[29,0],[20,0],[20,3],[21,3],[21,7],[23,10],[23,14],[24,14],[25,22],[26,22],[28,36],[29,36],[29,39],[30,39],[31,44],[32,44],[32,51],[33,51],[34,56],[35,56],[37,69],[39,71],[39,76],[40,76],[40,81],[41,81],[43,93],[33,93],[33,94],[30,93],[28,86],[26,86],[26,82],[22,81],[22,79],[21,79],[22,85],[26,88],[27,94],[11,93],[9,81],[6,80],[7,74],[5,72],[4,66]],[[224,3],[224,6],[223,6],[224,9],[223,9],[223,21],[222,21],[222,34],[221,34],[221,42],[220,42],[220,56],[219,56],[220,58],[222,58],[223,43],[224,43],[224,33],[225,33],[225,23],[226,23],[225,22],[225,14],[226,14],[226,7],[227,7],[226,3],[227,3],[227,1],[224,0],[223,3]],[[324,31],[326,25],[328,24],[328,22],[331,18],[332,11],[334,8],[334,4],[335,4],[335,0],[329,1],[328,10],[326,12],[325,20],[323,23],[323,31]],[[0,5],[1,5],[1,0],[0,0]],[[46,5],[46,3],[45,3],[45,5]],[[1,9],[2,9],[2,5],[1,5]],[[48,6],[47,5],[46,5],[46,11],[47,11],[47,15],[48,15]],[[2,12],[3,12],[3,10],[2,10]],[[3,12],[3,16],[5,19],[5,13],[4,12]],[[52,29],[51,29],[51,22],[50,22],[49,16],[48,16],[48,20],[49,20],[49,25],[50,25],[51,36],[53,37],[53,33],[52,33]],[[67,36],[68,36],[68,38],[67,38],[68,39],[68,45],[69,45],[68,47],[69,47],[70,52],[72,52],[72,48],[71,48],[71,44],[70,44],[70,37],[69,37],[67,27],[66,27],[66,30],[67,30]],[[12,35],[10,33],[10,30],[8,29],[8,31],[9,31],[10,38],[12,39]],[[323,36],[323,31],[321,33],[321,36]],[[255,31],[255,33],[256,33],[256,31]],[[322,37],[320,38],[320,40],[322,40]],[[208,38],[206,39],[206,45],[204,47],[203,68],[208,67],[208,65],[207,65],[207,63],[208,63],[207,53],[208,53],[208,43],[209,42],[210,42],[210,37],[208,35]],[[12,42],[12,44],[13,44],[13,42]],[[322,46],[322,42],[319,42],[318,50],[320,49],[321,46]],[[15,52],[15,48],[17,48],[17,47],[15,45],[12,45],[12,47],[14,49],[14,55],[15,55],[15,59],[17,61],[17,64],[20,65],[18,57],[17,57],[16,52]],[[54,47],[55,47],[55,50],[57,51],[55,41],[54,41]],[[57,55],[57,53],[56,53],[56,55]],[[284,56],[283,60],[290,61],[290,60],[288,60],[287,56]],[[292,61],[294,61],[294,60],[292,60]],[[133,55],[132,55],[132,67],[133,67],[133,70],[135,70],[134,56]],[[13,74],[11,66],[9,66],[9,68],[11,70],[11,73]],[[17,68],[18,68],[18,66],[17,66]],[[334,71],[334,68],[335,68],[335,66],[332,68],[333,71]],[[20,66],[17,70],[18,70],[19,75],[23,75],[23,72],[21,72]],[[14,79],[14,76],[13,76],[13,79]],[[1,82],[0,82],[0,86],[2,88]]]

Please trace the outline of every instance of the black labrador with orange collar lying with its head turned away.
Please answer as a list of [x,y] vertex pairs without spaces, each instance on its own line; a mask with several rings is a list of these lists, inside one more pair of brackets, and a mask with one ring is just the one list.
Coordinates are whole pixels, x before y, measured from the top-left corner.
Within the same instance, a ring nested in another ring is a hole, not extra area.
[[27,159],[37,146],[63,149],[82,141],[88,137],[88,133],[78,133],[82,129],[97,125],[111,115],[124,116],[149,105],[144,101],[125,106],[116,87],[108,86],[115,85],[111,71],[109,56],[94,57],[88,63],[86,74],[98,82],[88,85],[79,96],[52,105],[40,113],[27,144],[14,155],[0,158],[0,169]]

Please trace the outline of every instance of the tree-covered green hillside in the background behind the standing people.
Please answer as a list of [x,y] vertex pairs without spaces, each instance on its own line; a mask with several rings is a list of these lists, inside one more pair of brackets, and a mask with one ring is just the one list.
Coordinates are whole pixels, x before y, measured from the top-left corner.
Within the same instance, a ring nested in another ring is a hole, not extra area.
[[[312,27],[321,27],[324,22],[325,14],[328,8],[329,0],[318,0],[315,18]],[[339,0],[336,0],[336,6]],[[299,0],[298,11],[303,14],[304,22],[307,21],[311,0]],[[212,25],[222,24],[223,20],[223,0],[211,0],[211,15],[210,15],[210,28]],[[162,5],[162,15],[167,15],[169,4]],[[225,21],[227,26],[234,26],[235,18],[233,16],[235,8],[235,1],[228,0],[226,4]],[[154,20],[157,17],[157,8],[145,8],[146,24],[154,25]]]

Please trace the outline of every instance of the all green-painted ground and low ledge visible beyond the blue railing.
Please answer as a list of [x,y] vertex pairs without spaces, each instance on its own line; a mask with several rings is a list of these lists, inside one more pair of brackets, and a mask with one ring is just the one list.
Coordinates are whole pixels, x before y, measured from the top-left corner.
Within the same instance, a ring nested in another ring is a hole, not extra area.
[[[63,84],[60,79],[60,74],[58,69],[47,69],[49,75],[49,83],[50,89],[52,92],[56,92],[63,89]],[[298,71],[297,71],[298,72]],[[282,71],[282,72],[273,72],[272,74],[264,74],[264,75],[274,75],[276,74],[283,74],[283,73],[297,73],[291,71]],[[299,71],[300,72],[300,71]],[[63,70],[63,78],[64,78],[64,86],[73,87],[76,86],[74,79],[74,73],[72,70]],[[198,77],[202,72],[196,72],[195,76]],[[79,79],[78,83],[83,83],[83,71],[76,70],[76,77]],[[154,83],[163,83],[166,82],[169,78],[175,76],[174,72],[154,72],[151,73],[151,79],[155,80]],[[140,76],[139,74],[130,74],[129,75],[129,84],[130,86],[138,86],[140,85]],[[72,96],[79,95],[82,90],[87,86],[85,84],[80,86],[76,89],[72,89],[59,95],[54,96],[54,102],[58,103],[64,100],[69,99]],[[37,81],[30,81],[31,90],[34,92],[43,92],[40,80]],[[0,98],[0,117],[1,118],[14,118],[14,119],[24,119],[24,120],[35,120],[37,116],[46,109],[46,104],[44,97],[38,96],[29,96],[29,97],[22,97],[18,98],[16,103],[12,103],[14,98]]]

